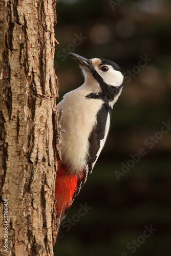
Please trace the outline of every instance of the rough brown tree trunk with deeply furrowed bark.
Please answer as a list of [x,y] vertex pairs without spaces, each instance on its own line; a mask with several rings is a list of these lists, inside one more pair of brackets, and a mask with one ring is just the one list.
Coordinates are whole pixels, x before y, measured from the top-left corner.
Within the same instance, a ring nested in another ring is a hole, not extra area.
[[1,0],[0,10],[0,254],[53,255],[55,0]]

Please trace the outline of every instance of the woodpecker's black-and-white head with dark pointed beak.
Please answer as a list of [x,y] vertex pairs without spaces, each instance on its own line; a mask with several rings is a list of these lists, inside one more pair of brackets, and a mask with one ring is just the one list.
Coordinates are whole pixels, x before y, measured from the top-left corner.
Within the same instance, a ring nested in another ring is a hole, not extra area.
[[91,84],[92,95],[101,95],[104,101],[112,102],[111,107],[113,107],[123,87],[123,74],[120,67],[106,59],[87,59],[75,53],[69,53],[69,55],[81,67],[86,82]]

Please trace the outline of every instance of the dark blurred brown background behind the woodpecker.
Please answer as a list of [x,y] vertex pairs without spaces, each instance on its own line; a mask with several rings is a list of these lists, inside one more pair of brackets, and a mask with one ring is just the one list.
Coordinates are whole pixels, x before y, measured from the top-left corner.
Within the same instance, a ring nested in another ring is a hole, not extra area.
[[[116,62],[124,88],[55,256],[171,255],[171,2],[57,0],[59,101],[83,83],[74,52]],[[147,231],[145,231],[147,230]]]

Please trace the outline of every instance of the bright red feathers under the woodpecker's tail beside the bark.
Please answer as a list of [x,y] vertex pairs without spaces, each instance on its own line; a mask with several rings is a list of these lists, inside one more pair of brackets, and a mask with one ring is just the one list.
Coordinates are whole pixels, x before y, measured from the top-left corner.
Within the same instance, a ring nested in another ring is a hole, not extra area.
[[60,224],[65,216],[65,210],[71,206],[74,191],[77,188],[77,176],[67,174],[66,167],[58,164],[55,181],[55,199],[56,199],[56,230],[57,233]]

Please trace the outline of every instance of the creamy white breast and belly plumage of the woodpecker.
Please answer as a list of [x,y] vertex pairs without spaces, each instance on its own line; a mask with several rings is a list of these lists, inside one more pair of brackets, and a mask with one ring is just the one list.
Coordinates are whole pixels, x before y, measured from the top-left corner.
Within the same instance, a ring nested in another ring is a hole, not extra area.
[[57,108],[63,110],[62,162],[70,173],[79,173],[86,166],[89,136],[96,124],[96,115],[102,100],[86,98],[90,92],[78,88],[66,94]]

